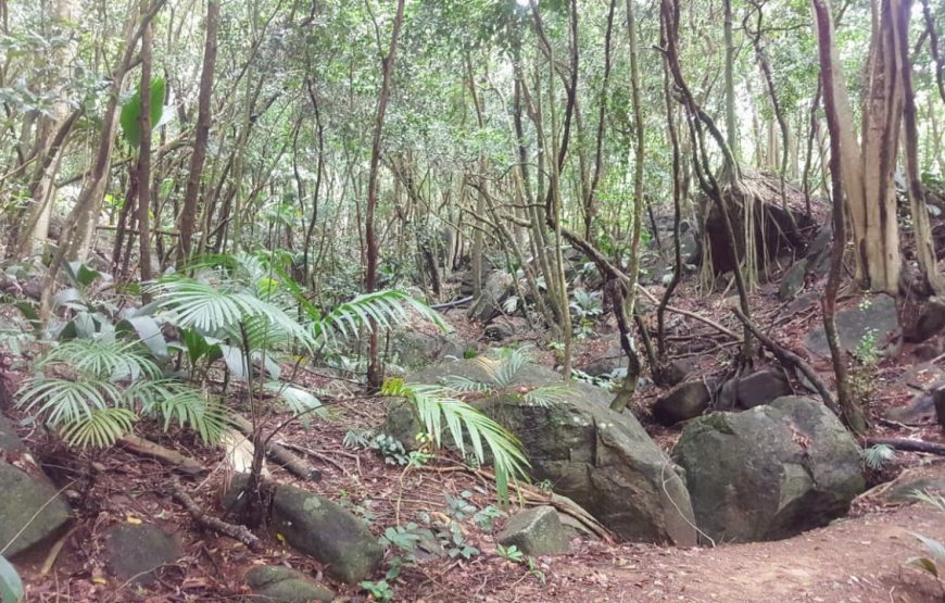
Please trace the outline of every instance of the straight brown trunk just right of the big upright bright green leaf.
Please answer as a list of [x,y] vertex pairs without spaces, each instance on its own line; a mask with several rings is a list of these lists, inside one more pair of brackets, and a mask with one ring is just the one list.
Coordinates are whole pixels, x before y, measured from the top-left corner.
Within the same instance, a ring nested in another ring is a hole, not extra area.
[[193,253],[193,227],[197,224],[197,201],[200,194],[200,181],[203,176],[203,164],[206,161],[206,147],[210,141],[212,125],[211,102],[213,99],[213,74],[216,65],[216,35],[219,27],[219,0],[206,2],[206,38],[203,46],[203,66],[200,72],[200,92],[197,99],[197,133],[193,140],[193,153],[190,155],[190,172],[187,177],[187,188],[184,192],[184,210],[177,221],[180,238],[177,243],[177,265],[184,265]]

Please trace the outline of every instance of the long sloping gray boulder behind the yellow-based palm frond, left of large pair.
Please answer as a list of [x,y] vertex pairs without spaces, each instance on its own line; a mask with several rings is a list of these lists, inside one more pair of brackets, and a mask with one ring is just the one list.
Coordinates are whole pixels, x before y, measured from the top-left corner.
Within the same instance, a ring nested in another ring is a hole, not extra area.
[[[482,363],[444,363],[412,375],[410,382],[436,384],[448,376],[488,381]],[[560,385],[557,373],[527,365],[517,386]],[[529,405],[512,391],[493,392],[475,405],[521,440],[536,480],[587,508],[626,540],[695,543],[689,493],[679,468],[629,413],[609,409],[610,394],[585,384],[547,405]],[[392,402],[385,431],[412,445],[423,431],[413,405]]]

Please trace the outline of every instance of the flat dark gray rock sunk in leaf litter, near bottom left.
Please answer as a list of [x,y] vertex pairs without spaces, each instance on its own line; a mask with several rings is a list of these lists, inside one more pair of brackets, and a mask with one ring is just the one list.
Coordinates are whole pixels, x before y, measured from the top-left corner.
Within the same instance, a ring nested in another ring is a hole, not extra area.
[[173,533],[153,524],[117,524],[105,531],[109,567],[121,580],[150,586],[156,573],[180,556]]

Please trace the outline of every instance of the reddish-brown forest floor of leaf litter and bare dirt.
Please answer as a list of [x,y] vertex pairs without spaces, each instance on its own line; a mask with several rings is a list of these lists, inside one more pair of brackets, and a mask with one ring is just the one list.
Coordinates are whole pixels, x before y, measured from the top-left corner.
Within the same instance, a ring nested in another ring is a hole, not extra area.
[[[764,296],[770,300],[770,296]],[[721,296],[700,299],[679,296],[678,305],[715,316],[734,327]],[[697,300],[697,301],[696,301]],[[776,324],[777,335],[789,344],[806,330],[811,313],[793,313],[779,318],[770,301],[756,316],[763,324]],[[477,327],[464,323],[461,312],[448,318],[462,335],[477,335]],[[691,341],[708,341],[710,349],[694,354],[700,359],[696,375],[718,372],[726,366],[730,348],[717,343],[714,334],[692,326],[684,334]],[[594,340],[579,344],[577,354],[597,354]],[[682,353],[688,353],[684,350]],[[541,360],[554,363],[553,354]],[[827,367],[823,367],[824,370]],[[902,363],[887,359],[878,368],[880,384],[872,412],[879,416],[889,405],[909,399],[899,376]],[[327,380],[306,374],[312,382]],[[318,482],[301,483],[278,467],[269,467],[282,482],[294,482],[325,494],[355,515],[370,520],[375,532],[385,527],[416,520],[421,512],[443,517],[450,513],[451,499],[463,499],[481,510],[494,503],[492,482],[457,461],[437,457],[428,466],[404,469],[385,463],[369,450],[348,449],[342,444],[351,427],[373,428],[383,419],[383,404],[377,398],[352,397],[330,409],[328,420],[311,426],[292,426],[280,441],[306,454],[323,472]],[[646,422],[645,406],[658,391],[644,389],[634,412],[656,441],[670,449],[679,429],[666,429]],[[15,412],[9,413],[20,418]],[[919,435],[942,441],[941,431],[929,425],[911,428],[880,423],[884,435]],[[210,468],[207,476],[181,478],[156,461],[115,449],[104,454],[76,455],[55,448],[42,431],[28,422],[20,424],[20,435],[41,457],[58,482],[75,480],[67,488],[80,516],[65,539],[65,547],[51,571],[41,574],[45,558],[26,560],[23,567],[28,601],[240,601],[248,591],[242,574],[260,564],[282,564],[306,571],[331,586],[339,601],[364,601],[364,591],[330,582],[312,558],[294,552],[278,537],[265,541],[256,553],[244,545],[194,527],[187,512],[172,501],[171,485],[180,480],[198,502],[213,514],[219,513],[218,498],[227,477],[222,470],[222,453],[204,448],[184,434],[173,438],[156,429],[143,434],[160,443],[173,445]],[[899,466],[919,464],[920,455],[899,454]],[[945,475],[943,465],[934,465]],[[55,475],[55,468],[61,475]],[[889,478],[891,476],[886,476]],[[873,480],[875,481],[875,480]],[[509,512],[515,511],[515,505]],[[105,528],[116,523],[153,523],[178,535],[182,555],[163,566],[158,581],[137,587],[115,580],[108,570]],[[501,520],[499,522],[501,525]],[[720,544],[715,548],[668,549],[653,544],[614,544],[575,541],[568,555],[536,560],[532,567],[516,564],[495,552],[493,533],[468,518],[462,522],[467,542],[481,551],[469,561],[433,558],[406,568],[392,586],[395,601],[818,601],[919,603],[945,601],[945,587],[933,577],[907,565],[907,560],[925,553],[914,537],[921,533],[945,541],[945,514],[918,503],[885,507],[869,499],[854,506],[849,517],[797,537],[764,543]]]

